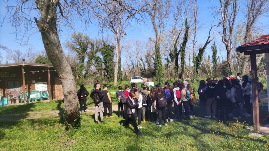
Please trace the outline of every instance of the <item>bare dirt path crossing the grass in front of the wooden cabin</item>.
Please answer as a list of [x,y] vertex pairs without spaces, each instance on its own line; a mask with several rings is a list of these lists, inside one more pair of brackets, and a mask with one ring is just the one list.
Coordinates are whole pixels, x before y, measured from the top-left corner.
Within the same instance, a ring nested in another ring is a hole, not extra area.
[[[112,111],[117,111],[118,105],[112,105]],[[87,113],[82,112],[82,114],[94,113],[94,106],[88,107]],[[63,115],[63,110],[54,111],[36,111],[36,112],[26,112],[26,113],[16,113],[16,114],[1,114],[0,122],[5,121],[16,121],[20,119],[38,119],[38,118],[55,118]]]

